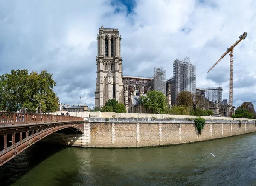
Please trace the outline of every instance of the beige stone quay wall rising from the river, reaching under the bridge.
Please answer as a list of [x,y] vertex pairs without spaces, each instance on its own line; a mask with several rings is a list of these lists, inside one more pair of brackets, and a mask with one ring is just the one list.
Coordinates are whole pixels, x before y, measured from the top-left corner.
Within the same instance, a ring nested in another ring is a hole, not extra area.
[[255,121],[246,120],[206,120],[201,135],[198,135],[194,121],[189,119],[85,118],[85,120],[83,135],[53,133],[42,141],[79,147],[151,147],[256,132]]

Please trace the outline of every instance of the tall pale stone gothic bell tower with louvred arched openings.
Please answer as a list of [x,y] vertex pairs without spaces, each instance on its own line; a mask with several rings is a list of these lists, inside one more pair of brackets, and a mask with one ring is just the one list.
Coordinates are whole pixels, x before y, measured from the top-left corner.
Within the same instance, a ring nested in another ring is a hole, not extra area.
[[95,107],[109,99],[123,103],[121,36],[117,28],[99,28]]

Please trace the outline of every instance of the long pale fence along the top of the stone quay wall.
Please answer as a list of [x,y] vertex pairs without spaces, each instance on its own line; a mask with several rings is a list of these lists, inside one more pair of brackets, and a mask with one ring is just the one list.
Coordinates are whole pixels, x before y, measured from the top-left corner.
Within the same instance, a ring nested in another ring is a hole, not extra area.
[[[67,111],[63,111],[66,115]],[[81,117],[80,112],[68,112],[70,116],[76,116]],[[57,114],[61,115],[61,112],[55,112],[55,113],[49,113],[49,114]],[[136,114],[136,113],[102,113],[102,112],[82,112],[83,118],[179,118],[179,119],[185,119],[185,118],[195,118],[196,116],[191,115],[171,115],[171,114]],[[205,119],[225,119],[225,120],[231,120],[233,118],[226,118],[226,117],[214,117],[214,116],[202,116],[202,118]],[[247,118],[234,118],[234,120],[248,120],[248,121],[254,121],[255,119],[247,119]]]

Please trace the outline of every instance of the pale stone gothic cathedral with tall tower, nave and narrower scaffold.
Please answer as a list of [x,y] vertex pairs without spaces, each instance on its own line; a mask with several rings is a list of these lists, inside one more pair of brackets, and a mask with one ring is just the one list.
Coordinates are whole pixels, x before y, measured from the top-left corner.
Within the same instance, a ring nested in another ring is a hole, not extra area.
[[[121,36],[117,28],[104,28],[102,25],[97,40],[95,107],[103,107],[109,99],[116,99],[125,105],[128,113],[146,113],[147,111],[140,104],[140,96],[153,89],[166,95],[166,70],[154,68],[155,76],[160,76],[162,79],[123,76]],[[163,85],[162,89],[157,89],[156,83]],[[170,90],[167,94],[170,94]]]

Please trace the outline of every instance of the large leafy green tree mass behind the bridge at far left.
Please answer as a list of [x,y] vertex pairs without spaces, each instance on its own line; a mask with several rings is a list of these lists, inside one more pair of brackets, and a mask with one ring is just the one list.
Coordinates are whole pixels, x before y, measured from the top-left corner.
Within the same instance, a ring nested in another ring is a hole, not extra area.
[[55,112],[58,97],[53,91],[56,82],[52,74],[28,70],[12,70],[0,76],[0,110],[17,111],[27,109],[34,113],[41,103],[41,111]]

